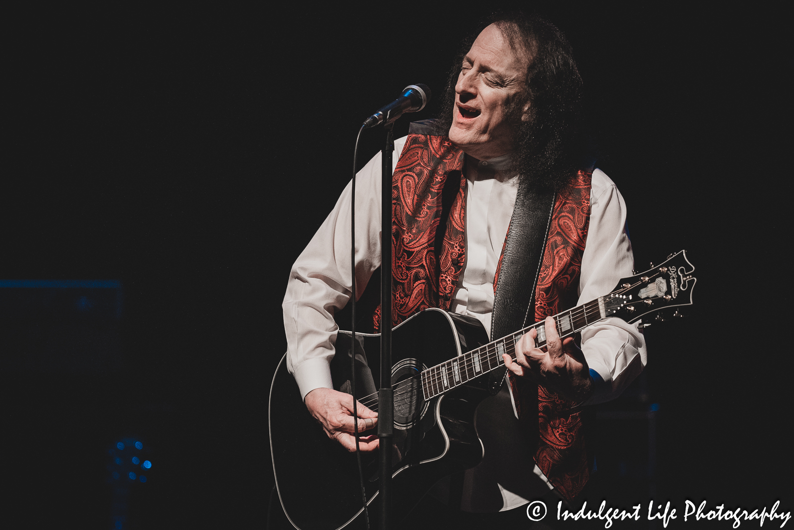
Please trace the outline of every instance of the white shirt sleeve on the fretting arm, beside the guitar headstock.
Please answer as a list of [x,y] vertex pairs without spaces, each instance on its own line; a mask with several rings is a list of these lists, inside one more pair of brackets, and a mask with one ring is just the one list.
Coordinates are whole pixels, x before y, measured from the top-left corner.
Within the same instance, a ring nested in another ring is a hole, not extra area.
[[[611,292],[622,277],[631,276],[633,267],[634,255],[626,233],[626,203],[615,183],[595,169],[578,304]],[[582,351],[595,381],[595,393],[587,404],[618,397],[647,362],[646,342],[638,323],[629,324],[618,318],[584,328]]]

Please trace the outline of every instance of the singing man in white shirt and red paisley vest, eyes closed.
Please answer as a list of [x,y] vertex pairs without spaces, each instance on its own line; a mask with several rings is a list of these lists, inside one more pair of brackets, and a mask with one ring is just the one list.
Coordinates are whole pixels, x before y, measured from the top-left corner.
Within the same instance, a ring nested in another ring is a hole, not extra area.
[[[572,499],[588,478],[582,407],[617,397],[645,365],[646,347],[621,319],[585,328],[577,346],[548,317],[630,276],[626,206],[588,159],[582,81],[553,25],[495,19],[455,68],[439,119],[395,141],[391,325],[435,307],[475,317],[499,339],[545,319],[544,350],[533,330],[515,362],[503,357],[508,384],[476,412],[483,461],[465,472],[453,502],[495,512],[549,489]],[[380,266],[380,191],[379,154],[357,175],[358,293]],[[295,261],[283,311],[287,366],[306,407],[353,451],[353,398],[330,377],[333,314],[352,292],[350,195],[348,186]],[[376,424],[375,412],[357,411],[360,431]],[[378,439],[360,447],[372,451]]]

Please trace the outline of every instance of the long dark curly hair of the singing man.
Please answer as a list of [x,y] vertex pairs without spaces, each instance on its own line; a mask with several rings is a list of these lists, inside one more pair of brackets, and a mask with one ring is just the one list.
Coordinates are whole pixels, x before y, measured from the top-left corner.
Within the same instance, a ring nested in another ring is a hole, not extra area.
[[[488,23],[496,25],[511,48],[529,58],[525,89],[507,109],[515,130],[514,169],[538,188],[565,188],[579,169],[593,162],[583,126],[583,83],[571,45],[557,27],[538,16],[497,14]],[[452,126],[455,84],[463,57],[479,33],[463,41],[449,72],[440,115],[434,123],[438,134],[448,134]],[[527,103],[528,120],[522,119]]]

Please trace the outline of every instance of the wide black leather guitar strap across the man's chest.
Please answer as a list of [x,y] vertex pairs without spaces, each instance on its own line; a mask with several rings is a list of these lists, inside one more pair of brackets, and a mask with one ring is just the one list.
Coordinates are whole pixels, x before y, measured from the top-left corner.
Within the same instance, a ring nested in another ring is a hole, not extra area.
[[[553,191],[538,191],[526,180],[518,184],[510,231],[496,280],[491,340],[534,323],[534,297],[554,208]],[[499,392],[506,367],[488,377],[488,389]]]

